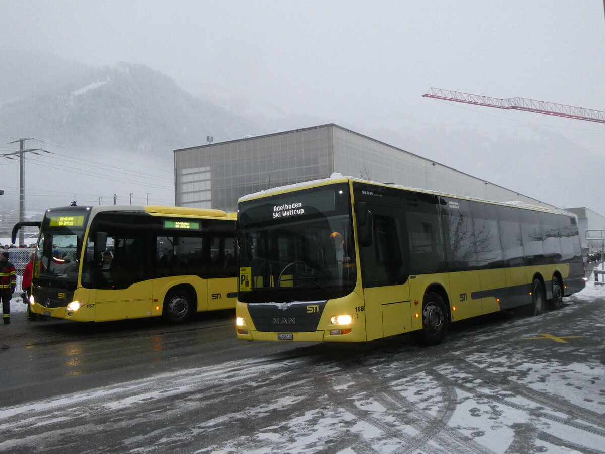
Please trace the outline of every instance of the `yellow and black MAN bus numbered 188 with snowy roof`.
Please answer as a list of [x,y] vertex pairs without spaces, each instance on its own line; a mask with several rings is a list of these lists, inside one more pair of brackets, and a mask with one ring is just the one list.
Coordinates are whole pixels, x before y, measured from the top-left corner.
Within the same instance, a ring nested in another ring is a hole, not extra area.
[[332,177],[239,201],[237,336],[369,341],[584,288],[566,212]]

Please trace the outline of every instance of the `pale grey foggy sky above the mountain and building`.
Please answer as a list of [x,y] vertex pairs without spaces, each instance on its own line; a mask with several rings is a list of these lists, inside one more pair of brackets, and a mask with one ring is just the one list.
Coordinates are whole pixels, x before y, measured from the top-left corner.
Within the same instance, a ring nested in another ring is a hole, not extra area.
[[0,47],[145,64],[218,104],[324,118],[605,215],[578,181],[603,169],[605,124],[422,97],[436,87],[605,110],[604,38],[601,0],[0,0]]

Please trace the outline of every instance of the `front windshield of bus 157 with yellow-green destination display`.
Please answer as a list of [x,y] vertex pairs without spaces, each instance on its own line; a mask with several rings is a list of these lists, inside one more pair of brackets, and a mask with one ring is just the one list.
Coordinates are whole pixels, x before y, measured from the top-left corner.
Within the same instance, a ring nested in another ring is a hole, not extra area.
[[88,210],[48,211],[42,220],[33,283],[74,291]]

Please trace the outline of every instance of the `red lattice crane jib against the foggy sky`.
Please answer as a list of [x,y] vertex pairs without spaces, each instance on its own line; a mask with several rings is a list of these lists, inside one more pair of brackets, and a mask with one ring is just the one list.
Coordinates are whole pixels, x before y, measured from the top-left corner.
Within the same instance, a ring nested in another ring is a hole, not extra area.
[[495,107],[497,109],[524,110],[526,112],[543,113],[557,117],[575,118],[589,122],[605,123],[605,112],[590,110],[570,105],[554,104],[552,102],[536,101],[523,97],[508,97],[499,99],[496,97],[479,96],[477,94],[460,93],[459,91],[441,90],[430,88],[423,97],[434,97],[446,101],[464,102],[465,104]]

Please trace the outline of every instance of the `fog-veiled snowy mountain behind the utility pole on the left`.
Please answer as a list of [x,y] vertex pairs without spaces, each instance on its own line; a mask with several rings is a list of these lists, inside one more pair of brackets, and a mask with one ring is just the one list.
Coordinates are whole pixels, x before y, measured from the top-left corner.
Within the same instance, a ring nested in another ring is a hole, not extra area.
[[206,143],[207,136],[217,142],[266,132],[186,93],[171,77],[145,65],[88,68],[59,59],[47,63],[62,69],[38,84],[18,84],[20,71],[1,70],[3,85],[18,89],[13,96],[6,90],[0,93],[0,135],[36,137],[82,153],[122,150],[171,156],[177,148]]

